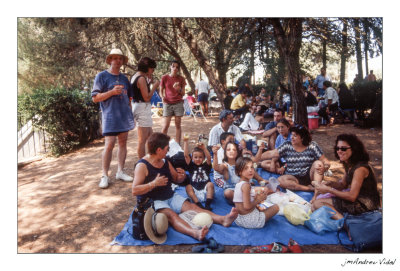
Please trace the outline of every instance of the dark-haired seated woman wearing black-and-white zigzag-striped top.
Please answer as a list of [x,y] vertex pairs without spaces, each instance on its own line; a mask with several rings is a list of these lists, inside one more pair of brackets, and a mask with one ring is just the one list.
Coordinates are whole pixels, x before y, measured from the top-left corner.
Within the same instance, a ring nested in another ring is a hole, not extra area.
[[330,163],[321,148],[311,141],[307,128],[296,125],[289,129],[291,142],[284,142],[278,149],[266,151],[261,159],[284,158],[287,163],[285,175],[278,178],[282,188],[314,191],[312,181],[322,181]]

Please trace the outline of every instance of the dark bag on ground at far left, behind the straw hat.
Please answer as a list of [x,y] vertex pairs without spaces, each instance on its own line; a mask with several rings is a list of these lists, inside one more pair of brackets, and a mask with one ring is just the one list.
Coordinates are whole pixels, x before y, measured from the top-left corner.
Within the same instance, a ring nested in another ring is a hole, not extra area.
[[132,237],[137,240],[149,240],[144,230],[144,215],[147,210],[153,206],[150,198],[138,200],[135,209],[132,212]]

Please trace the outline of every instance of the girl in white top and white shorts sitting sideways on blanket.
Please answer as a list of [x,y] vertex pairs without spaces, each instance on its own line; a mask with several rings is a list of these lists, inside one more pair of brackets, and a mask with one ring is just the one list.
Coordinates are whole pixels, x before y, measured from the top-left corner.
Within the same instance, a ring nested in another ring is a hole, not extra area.
[[274,193],[268,188],[250,185],[250,180],[256,173],[253,161],[247,157],[240,157],[236,161],[236,174],[240,176],[240,182],[235,186],[233,202],[239,212],[235,220],[236,225],[247,229],[262,228],[271,217],[279,212],[278,205],[272,205],[268,209],[259,211],[257,205],[263,202],[269,194]]

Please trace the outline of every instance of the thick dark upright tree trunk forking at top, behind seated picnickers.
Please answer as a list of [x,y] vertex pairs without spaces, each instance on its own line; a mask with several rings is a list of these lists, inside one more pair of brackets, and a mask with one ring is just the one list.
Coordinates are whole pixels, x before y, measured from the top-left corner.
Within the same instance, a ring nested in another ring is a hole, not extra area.
[[287,30],[284,31],[279,19],[271,19],[274,27],[274,37],[276,39],[279,54],[285,61],[292,94],[292,105],[294,121],[303,126],[308,126],[307,109],[302,90],[302,76],[300,68],[300,47],[302,39],[303,19],[282,19],[287,22]]

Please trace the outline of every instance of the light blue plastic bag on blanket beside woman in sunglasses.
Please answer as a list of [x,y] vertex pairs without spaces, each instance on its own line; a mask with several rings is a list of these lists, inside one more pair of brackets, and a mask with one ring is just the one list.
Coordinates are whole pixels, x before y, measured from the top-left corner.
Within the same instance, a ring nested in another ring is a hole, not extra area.
[[304,225],[318,234],[338,231],[343,227],[344,219],[332,219],[332,216],[335,214],[336,212],[331,208],[322,206],[310,215],[310,220],[306,221]]

